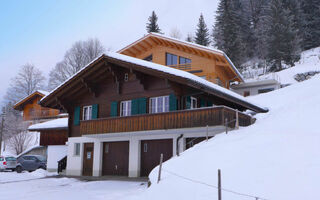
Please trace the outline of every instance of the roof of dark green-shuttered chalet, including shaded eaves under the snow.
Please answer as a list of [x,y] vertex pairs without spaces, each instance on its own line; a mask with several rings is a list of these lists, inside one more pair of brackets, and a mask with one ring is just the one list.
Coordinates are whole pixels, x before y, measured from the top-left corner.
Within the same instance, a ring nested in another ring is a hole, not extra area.
[[[99,62],[105,62],[105,63],[116,63],[120,66],[124,67],[130,67],[134,70],[140,71],[142,73],[146,74],[155,74],[166,77],[169,80],[173,82],[179,82],[181,84],[185,84],[188,86],[191,86],[193,88],[197,88],[200,90],[203,90],[205,92],[208,92],[209,94],[218,96],[220,98],[223,98],[225,100],[231,101],[232,103],[238,104],[240,106],[243,106],[247,109],[256,111],[256,112],[267,112],[268,109],[263,108],[255,103],[252,103],[245,99],[243,96],[240,96],[226,88],[223,88],[217,84],[214,84],[212,82],[209,82],[205,79],[202,79],[196,75],[193,75],[189,72],[185,72],[182,70],[174,69],[171,67],[167,67],[164,65],[152,63],[149,61],[145,61],[142,59],[137,59],[134,57],[126,56],[119,53],[113,53],[108,52],[107,54],[102,54],[101,56],[97,57],[95,60],[93,60],[91,63],[86,65],[84,68],[82,68],[80,71],[78,71],[76,74],[74,74],[72,77],[70,77],[68,80],[66,80],[64,83],[59,85],[56,89],[52,90],[48,95],[43,97],[40,101],[40,103],[44,106],[49,106],[49,102],[53,102],[54,100],[57,100],[58,97],[55,96],[58,92],[63,91],[64,88],[67,87],[68,84],[77,81],[77,78],[83,76],[87,71],[90,70],[91,67],[94,67]],[[80,80],[78,80],[80,81]]]

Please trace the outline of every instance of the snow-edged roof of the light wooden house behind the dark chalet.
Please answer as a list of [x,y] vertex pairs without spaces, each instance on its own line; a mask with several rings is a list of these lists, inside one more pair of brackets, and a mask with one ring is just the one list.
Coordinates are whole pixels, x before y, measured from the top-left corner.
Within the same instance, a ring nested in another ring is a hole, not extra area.
[[223,52],[221,50],[218,50],[218,49],[215,49],[215,48],[212,48],[212,47],[207,47],[207,46],[199,45],[199,44],[196,44],[196,43],[188,42],[188,41],[185,41],[185,40],[180,40],[180,39],[173,38],[173,37],[166,36],[166,35],[159,34],[159,33],[151,32],[151,33],[145,35],[144,37],[138,39],[137,41],[133,42],[132,44],[120,49],[117,52],[118,53],[123,52],[126,49],[134,46],[135,44],[137,44],[139,42],[141,42],[142,40],[145,40],[146,38],[152,37],[152,36],[157,37],[157,38],[161,38],[161,39],[164,39],[164,40],[168,40],[168,41],[171,41],[171,42],[179,43],[179,44],[182,44],[182,45],[186,45],[186,46],[189,46],[189,47],[192,47],[192,48],[196,48],[196,49],[199,49],[199,50],[202,50],[202,51],[207,51],[207,52],[211,52],[211,53],[215,53],[215,54],[220,54],[220,55],[222,55],[222,56],[224,56],[226,58],[226,60],[231,65],[231,67],[235,71],[235,73],[239,76],[241,81],[245,82],[245,80],[242,77],[241,73],[239,72],[239,70],[236,68],[236,66],[233,64],[233,62],[230,60],[230,58],[227,56],[227,54],[225,52]]

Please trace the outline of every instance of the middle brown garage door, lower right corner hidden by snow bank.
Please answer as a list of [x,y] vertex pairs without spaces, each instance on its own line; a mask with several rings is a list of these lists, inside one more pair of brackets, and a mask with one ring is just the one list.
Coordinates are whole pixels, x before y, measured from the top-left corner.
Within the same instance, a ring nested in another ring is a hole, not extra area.
[[141,176],[148,176],[159,165],[160,154],[163,154],[163,161],[172,157],[172,139],[141,141]]

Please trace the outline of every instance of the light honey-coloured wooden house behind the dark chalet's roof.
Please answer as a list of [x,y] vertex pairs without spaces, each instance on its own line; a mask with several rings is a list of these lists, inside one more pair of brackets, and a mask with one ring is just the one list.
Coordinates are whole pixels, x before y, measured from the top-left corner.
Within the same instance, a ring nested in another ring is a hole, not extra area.
[[224,52],[158,33],[149,33],[118,53],[184,70],[225,88],[230,82],[243,82]]

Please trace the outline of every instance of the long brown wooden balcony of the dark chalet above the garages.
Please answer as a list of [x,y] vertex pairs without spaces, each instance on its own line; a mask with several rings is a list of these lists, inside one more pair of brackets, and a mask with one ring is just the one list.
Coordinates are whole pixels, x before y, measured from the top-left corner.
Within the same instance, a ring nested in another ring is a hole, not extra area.
[[[234,127],[236,111],[224,106],[206,107],[192,110],[180,110],[174,112],[143,114],[129,117],[111,117],[96,120],[81,121],[80,134],[102,134],[132,131],[148,131],[162,129],[179,129],[205,126],[225,125]],[[238,112],[240,126],[249,126],[252,118],[249,115]]]

